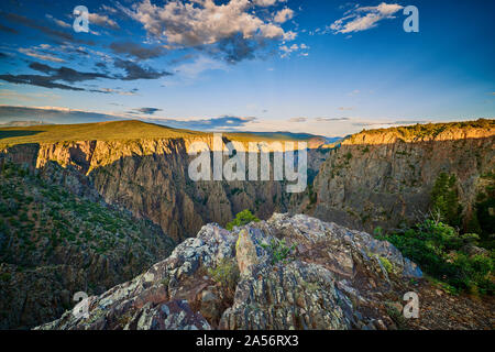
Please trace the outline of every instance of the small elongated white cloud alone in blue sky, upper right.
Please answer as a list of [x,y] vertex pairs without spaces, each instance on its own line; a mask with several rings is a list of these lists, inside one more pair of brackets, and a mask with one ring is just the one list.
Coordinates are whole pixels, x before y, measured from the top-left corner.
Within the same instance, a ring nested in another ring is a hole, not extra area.
[[394,19],[394,14],[404,9],[397,3],[382,2],[377,7],[362,7],[346,11],[344,16],[330,25],[333,33],[361,32],[377,26],[385,19]]

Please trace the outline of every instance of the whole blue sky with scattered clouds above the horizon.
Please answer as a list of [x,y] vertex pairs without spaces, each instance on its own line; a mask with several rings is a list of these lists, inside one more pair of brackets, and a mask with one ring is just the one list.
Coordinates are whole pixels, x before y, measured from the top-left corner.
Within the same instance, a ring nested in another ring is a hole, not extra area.
[[[89,32],[73,10],[89,10]],[[419,10],[419,33],[403,13]],[[142,119],[328,136],[495,116],[493,1],[14,1],[0,123]]]

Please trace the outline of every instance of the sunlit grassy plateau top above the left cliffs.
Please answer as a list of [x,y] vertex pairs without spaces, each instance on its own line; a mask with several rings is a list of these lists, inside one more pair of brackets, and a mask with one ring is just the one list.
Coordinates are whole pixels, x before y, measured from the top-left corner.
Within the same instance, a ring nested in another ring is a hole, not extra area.
[[[112,121],[84,124],[47,124],[0,129],[0,145],[70,141],[113,141],[207,136],[210,133],[172,129],[141,121]],[[235,141],[306,141],[309,135],[223,133]]]

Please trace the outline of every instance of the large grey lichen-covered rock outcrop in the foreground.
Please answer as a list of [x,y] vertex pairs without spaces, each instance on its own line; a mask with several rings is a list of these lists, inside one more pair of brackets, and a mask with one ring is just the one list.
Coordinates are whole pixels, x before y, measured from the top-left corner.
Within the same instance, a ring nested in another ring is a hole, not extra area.
[[385,302],[421,275],[367,233],[274,215],[232,232],[208,224],[146,273],[88,298],[87,317],[67,311],[37,329],[395,329]]

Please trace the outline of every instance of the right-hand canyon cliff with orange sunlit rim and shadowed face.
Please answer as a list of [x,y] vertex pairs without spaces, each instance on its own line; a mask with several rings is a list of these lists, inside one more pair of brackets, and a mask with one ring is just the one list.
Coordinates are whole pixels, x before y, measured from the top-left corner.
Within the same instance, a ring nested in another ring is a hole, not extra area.
[[468,223],[494,172],[493,120],[366,131],[331,151],[289,209],[352,229],[396,229],[428,212],[435,182],[447,173],[457,176]]

